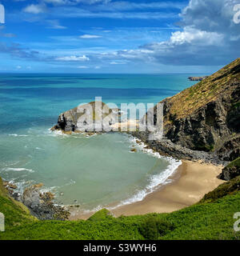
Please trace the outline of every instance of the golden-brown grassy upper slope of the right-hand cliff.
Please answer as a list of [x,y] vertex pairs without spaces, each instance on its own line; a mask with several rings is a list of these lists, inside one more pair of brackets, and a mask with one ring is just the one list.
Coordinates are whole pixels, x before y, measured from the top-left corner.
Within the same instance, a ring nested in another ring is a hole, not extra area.
[[194,113],[198,108],[216,100],[219,94],[227,93],[226,89],[230,89],[234,82],[239,81],[240,58],[237,58],[202,82],[198,82],[164,101],[170,103],[169,114],[176,119],[185,118],[186,115]]

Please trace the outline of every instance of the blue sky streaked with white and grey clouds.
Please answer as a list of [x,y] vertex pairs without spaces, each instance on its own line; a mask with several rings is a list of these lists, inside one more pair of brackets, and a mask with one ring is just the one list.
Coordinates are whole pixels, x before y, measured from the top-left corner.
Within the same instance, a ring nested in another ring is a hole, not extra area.
[[3,73],[210,74],[240,57],[240,0],[0,4]]

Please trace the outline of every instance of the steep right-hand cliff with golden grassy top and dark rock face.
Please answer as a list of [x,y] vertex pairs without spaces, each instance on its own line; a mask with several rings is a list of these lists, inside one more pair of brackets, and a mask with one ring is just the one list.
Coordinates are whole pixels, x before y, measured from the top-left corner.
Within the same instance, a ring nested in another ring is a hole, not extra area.
[[[196,150],[210,152],[222,161],[239,156],[240,58],[162,103],[164,136],[173,148],[170,154],[176,156],[174,153],[183,147],[193,150],[193,155]],[[134,135],[147,142],[146,136]],[[148,143],[157,150],[169,151],[166,140]]]

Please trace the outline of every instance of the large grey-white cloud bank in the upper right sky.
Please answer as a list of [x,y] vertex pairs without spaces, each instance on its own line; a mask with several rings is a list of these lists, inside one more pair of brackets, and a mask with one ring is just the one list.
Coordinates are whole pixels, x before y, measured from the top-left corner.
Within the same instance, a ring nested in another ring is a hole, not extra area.
[[[238,0],[239,1],[239,0]],[[240,26],[233,22],[237,0],[190,0],[182,11],[182,30],[166,41],[138,50],[101,54],[100,59],[162,63],[171,66],[221,66],[240,55]]]

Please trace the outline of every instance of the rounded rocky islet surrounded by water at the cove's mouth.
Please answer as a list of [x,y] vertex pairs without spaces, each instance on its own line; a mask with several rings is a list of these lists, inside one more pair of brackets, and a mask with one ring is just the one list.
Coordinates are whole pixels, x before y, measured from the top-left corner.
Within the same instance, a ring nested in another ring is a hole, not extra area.
[[90,102],[60,114],[52,130],[62,130],[66,134],[110,131],[109,126],[118,122],[120,115],[118,109],[110,109],[103,102]]

